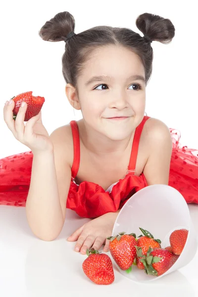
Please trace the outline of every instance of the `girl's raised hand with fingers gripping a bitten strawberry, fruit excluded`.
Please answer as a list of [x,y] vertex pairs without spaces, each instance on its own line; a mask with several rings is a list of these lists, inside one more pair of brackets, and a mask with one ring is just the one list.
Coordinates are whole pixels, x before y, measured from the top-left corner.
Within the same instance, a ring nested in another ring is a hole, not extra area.
[[[7,102],[7,101],[6,101]],[[16,119],[13,119],[13,112],[15,102],[11,100],[11,104],[7,103],[3,108],[3,118],[9,130],[13,133],[14,137],[29,147],[32,152],[53,151],[53,144],[49,139],[49,134],[44,127],[41,119],[41,111],[38,115],[33,116],[24,125],[24,118],[27,109],[25,106],[20,106]]]

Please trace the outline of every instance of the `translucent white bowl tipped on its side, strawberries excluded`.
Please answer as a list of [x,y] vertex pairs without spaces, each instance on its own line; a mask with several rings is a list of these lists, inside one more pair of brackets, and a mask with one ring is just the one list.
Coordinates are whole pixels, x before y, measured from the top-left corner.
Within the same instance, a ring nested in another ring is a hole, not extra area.
[[198,240],[193,225],[188,204],[175,188],[167,185],[151,185],[135,193],[124,204],[114,223],[112,235],[120,232],[143,235],[139,227],[148,230],[155,239],[161,240],[161,247],[170,246],[170,234],[177,229],[189,230],[186,245],[173,266],[160,276],[148,275],[142,269],[132,265],[132,271],[119,271],[135,282],[154,281],[183,266],[187,265],[195,256]]

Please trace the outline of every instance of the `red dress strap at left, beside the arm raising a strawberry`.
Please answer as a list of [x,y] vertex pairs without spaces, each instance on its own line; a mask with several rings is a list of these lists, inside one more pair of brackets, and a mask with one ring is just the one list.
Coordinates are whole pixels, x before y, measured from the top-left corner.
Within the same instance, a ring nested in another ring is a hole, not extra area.
[[78,124],[75,120],[70,122],[72,136],[73,136],[73,147],[74,147],[74,158],[71,168],[71,178],[74,180],[80,165],[80,137]]

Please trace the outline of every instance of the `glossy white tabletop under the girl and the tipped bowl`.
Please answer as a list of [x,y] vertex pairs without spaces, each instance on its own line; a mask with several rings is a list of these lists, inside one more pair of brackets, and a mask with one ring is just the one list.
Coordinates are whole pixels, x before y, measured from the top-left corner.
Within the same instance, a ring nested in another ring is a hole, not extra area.
[[[198,235],[198,204],[188,206]],[[74,251],[76,242],[66,241],[89,220],[67,209],[60,235],[45,242],[33,235],[24,207],[0,205],[0,297],[198,297],[198,252],[182,269],[149,284],[124,277],[107,252],[115,280],[106,286],[93,283],[82,269],[87,255]]]

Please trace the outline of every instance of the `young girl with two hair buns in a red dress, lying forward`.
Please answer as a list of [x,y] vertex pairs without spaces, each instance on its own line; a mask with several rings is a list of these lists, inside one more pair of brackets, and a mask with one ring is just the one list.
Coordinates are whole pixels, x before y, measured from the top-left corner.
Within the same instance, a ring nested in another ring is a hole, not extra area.
[[172,186],[188,203],[198,203],[198,151],[182,147],[178,131],[144,115],[151,42],[170,43],[175,28],[150,13],[136,25],[144,37],[109,26],[75,34],[73,16],[56,14],[40,37],[65,41],[65,93],[83,118],[49,136],[41,112],[24,126],[26,103],[15,121],[13,100],[3,110],[8,128],[31,151],[0,159],[0,204],[26,206],[32,232],[46,241],[59,235],[66,208],[91,218],[68,239],[83,254],[103,244],[108,250],[120,209],[148,185]]

